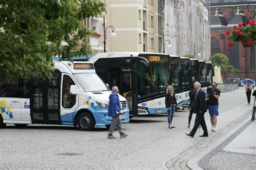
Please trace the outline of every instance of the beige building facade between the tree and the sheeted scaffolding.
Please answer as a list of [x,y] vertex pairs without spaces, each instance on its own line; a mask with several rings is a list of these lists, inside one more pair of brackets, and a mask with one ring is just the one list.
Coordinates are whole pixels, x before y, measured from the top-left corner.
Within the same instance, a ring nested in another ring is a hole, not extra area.
[[105,24],[113,26],[116,32],[116,37],[111,38],[111,28],[107,28],[107,52],[160,52],[157,2],[156,0],[105,0],[107,4]]

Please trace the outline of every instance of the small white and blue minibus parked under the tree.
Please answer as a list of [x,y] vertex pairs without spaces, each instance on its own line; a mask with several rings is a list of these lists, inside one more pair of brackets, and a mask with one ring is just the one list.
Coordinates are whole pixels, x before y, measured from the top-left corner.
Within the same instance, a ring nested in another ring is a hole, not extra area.
[[[0,127],[5,124],[58,124],[80,130],[109,126],[110,89],[98,77],[91,62],[54,62],[52,78],[0,81]],[[129,108],[120,96],[122,123],[129,122]]]

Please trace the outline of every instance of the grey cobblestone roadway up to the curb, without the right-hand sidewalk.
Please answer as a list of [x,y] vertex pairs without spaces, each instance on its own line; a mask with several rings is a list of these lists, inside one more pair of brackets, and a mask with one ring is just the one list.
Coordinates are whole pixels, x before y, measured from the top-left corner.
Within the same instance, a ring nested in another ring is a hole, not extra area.
[[[186,137],[185,133],[190,131],[186,127],[187,110],[176,112],[173,118],[176,128],[172,129],[167,127],[165,114],[134,117],[129,124],[123,125],[129,134],[125,139],[107,139],[106,128],[84,132],[69,126],[29,125],[17,128],[9,125],[0,130],[0,169],[185,169],[188,167],[184,162],[196,152],[191,148],[199,149],[196,146],[214,141],[215,136],[223,135],[236,121],[240,121],[240,116],[243,120],[250,119],[249,113],[234,112],[230,118],[228,112],[240,107],[251,109],[252,106],[246,104],[242,87],[235,92],[221,93],[219,102],[217,131],[209,132],[208,138],[198,137],[203,133],[201,129],[194,138]],[[227,115],[224,114],[226,112]],[[207,113],[205,119],[209,129]],[[119,137],[117,131],[113,135]],[[187,159],[179,160],[185,152]]]

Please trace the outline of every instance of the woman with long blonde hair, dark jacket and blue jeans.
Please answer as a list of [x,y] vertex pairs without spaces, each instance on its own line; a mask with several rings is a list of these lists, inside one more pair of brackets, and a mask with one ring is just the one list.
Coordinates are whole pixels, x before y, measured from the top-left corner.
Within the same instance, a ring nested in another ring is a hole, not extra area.
[[168,113],[168,127],[174,128],[175,126],[172,126],[172,118],[175,112],[175,106],[177,105],[176,97],[173,92],[173,87],[171,85],[167,86],[166,88],[166,96],[165,96],[165,106]]

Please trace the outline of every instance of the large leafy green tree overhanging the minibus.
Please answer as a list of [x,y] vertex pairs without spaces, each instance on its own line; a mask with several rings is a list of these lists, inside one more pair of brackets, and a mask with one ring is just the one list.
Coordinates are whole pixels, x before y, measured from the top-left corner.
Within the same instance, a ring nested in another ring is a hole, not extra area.
[[0,6],[2,81],[47,78],[53,71],[53,56],[71,60],[92,54],[87,41],[92,30],[82,25],[82,19],[105,11],[99,0],[5,0]]

